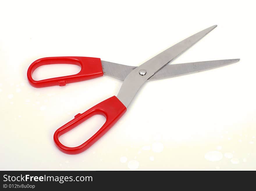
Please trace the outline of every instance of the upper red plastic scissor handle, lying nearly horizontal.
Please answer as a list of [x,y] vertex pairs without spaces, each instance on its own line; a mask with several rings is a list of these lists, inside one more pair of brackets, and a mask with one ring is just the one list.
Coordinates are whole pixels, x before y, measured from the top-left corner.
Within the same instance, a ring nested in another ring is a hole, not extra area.
[[[81,67],[81,71],[74,75],[49,78],[44,80],[33,80],[32,73],[36,68],[48,64],[75,64]],[[47,86],[65,86],[67,83],[89,80],[103,76],[100,58],[92,57],[47,57],[34,61],[27,72],[31,86],[42,88]]]

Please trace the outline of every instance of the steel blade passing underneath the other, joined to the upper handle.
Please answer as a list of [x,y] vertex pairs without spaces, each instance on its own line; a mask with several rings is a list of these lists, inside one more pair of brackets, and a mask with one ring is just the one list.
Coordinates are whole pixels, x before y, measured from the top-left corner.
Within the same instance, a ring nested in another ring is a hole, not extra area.
[[[171,64],[159,70],[148,80],[157,80],[181,76],[185,74],[191,74],[195,72],[201,72],[213,68],[218,68],[221,66],[226,66],[228,64],[236,63],[239,60],[240,59],[228,59],[203,62],[190,62],[183,64]],[[124,81],[125,77],[137,67],[102,61],[102,68],[105,75]]]

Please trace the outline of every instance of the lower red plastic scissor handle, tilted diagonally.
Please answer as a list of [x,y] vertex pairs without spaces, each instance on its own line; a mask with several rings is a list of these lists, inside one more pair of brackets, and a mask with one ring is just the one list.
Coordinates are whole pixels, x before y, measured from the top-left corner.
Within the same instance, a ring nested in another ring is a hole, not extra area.
[[[100,137],[102,137],[125,112],[125,105],[117,97],[110,97],[109,99],[98,103],[86,112],[82,114],[77,114],[74,119],[57,129],[53,137],[55,145],[58,147],[59,150],[67,154],[78,154],[80,152],[83,152],[91,145],[93,145],[93,143],[95,143]],[[106,117],[106,122],[90,139],[77,147],[66,147],[61,144],[58,139],[61,135],[70,131],[86,119],[89,119],[96,114],[101,114]]]

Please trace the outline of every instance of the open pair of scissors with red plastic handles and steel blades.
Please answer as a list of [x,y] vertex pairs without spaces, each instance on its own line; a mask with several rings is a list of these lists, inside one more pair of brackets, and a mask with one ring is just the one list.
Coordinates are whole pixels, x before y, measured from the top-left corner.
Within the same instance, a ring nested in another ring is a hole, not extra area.
[[[239,61],[240,59],[229,59],[168,65],[174,58],[202,39],[202,37],[211,32],[216,26],[211,26],[186,38],[138,67],[102,61],[99,58],[91,57],[47,57],[34,61],[28,68],[27,77],[31,86],[36,88],[55,85],[65,86],[67,83],[93,79],[103,75],[123,81],[117,96],[110,97],[86,112],[77,114],[74,119],[56,130],[54,133],[54,142],[57,148],[67,154],[78,154],[88,149],[120,119],[140,87],[148,80],[191,74]],[[39,66],[63,63],[78,65],[81,67],[81,71],[74,75],[39,81],[32,79],[33,71]],[[61,135],[96,114],[103,115],[106,118],[106,122],[90,139],[77,147],[67,147],[59,141]]]

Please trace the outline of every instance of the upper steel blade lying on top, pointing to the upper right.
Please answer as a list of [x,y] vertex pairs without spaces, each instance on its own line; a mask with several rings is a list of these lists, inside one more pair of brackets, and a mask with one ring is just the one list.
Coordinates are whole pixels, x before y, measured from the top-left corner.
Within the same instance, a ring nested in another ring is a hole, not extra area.
[[[179,54],[187,50],[197,41],[202,39],[206,34],[213,30],[217,25],[211,26],[205,30],[202,30],[189,38],[175,44],[174,46],[166,49],[150,60],[146,61],[142,65],[131,71],[125,78],[119,93],[117,95],[118,99],[126,106],[130,104],[131,100],[134,98],[140,87],[152,77],[155,73],[166,66],[170,61],[172,61]],[[146,73],[145,73],[146,70]],[[144,71],[145,75],[140,75],[139,71]]]

